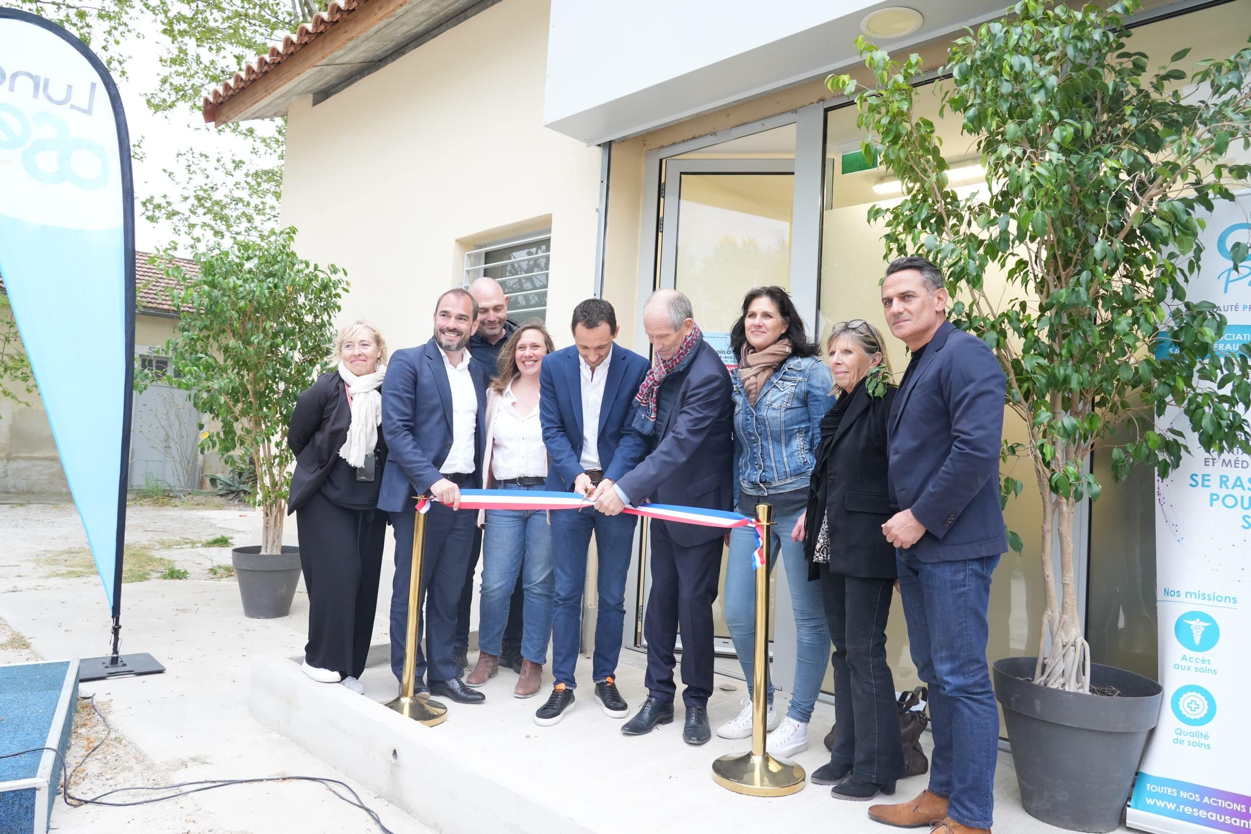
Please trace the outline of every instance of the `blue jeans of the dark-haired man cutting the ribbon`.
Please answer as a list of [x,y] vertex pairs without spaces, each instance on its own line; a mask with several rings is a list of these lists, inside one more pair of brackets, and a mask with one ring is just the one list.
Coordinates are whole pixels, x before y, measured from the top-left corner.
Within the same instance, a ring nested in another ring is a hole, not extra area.
[[555,683],[577,689],[573,679],[582,645],[582,594],[587,584],[587,548],[595,534],[599,560],[595,614],[595,655],[590,676],[595,683],[617,674],[626,620],[626,574],[638,516],[604,515],[595,509],[552,513],[552,544],[555,569],[555,603],[552,616],[552,676]]

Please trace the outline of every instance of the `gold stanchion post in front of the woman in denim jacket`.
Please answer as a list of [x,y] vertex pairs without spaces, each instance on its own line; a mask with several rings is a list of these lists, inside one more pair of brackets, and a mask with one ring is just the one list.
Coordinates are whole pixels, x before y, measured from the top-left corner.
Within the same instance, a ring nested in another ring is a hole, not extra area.
[[786,796],[803,789],[803,768],[764,751],[768,713],[766,683],[769,639],[769,556],[773,549],[773,505],[757,504],[764,564],[756,569],[756,650],[752,670],[752,750],[723,755],[712,763],[712,778],[722,788],[748,796]]

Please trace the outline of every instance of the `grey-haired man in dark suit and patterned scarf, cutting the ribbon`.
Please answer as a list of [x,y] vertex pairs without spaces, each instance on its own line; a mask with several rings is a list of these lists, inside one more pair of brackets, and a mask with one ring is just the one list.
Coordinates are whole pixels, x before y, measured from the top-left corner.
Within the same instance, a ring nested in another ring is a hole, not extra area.
[[[733,500],[734,400],[729,373],[703,340],[691,300],[677,290],[657,290],[643,309],[643,329],[656,361],[639,386],[632,425],[649,439],[649,454],[615,484],[592,493],[595,509],[620,513],[626,503],[654,498],[728,510]],[[682,738],[703,744],[713,686],[712,604],[721,578],[723,530],[669,521],[652,529],[652,593],[647,636],[647,700],[622,726],[626,735],[651,733],[673,720],[674,649],[682,624]]]

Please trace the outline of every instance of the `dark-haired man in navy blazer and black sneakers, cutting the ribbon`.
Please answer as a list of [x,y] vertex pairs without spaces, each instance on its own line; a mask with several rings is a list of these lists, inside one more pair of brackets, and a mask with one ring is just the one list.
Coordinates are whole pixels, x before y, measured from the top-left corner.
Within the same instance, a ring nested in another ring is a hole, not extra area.
[[[631,403],[647,376],[648,361],[615,344],[617,313],[603,299],[587,299],[573,310],[572,348],[543,360],[539,373],[539,420],[547,445],[547,489],[589,495],[609,486],[643,456],[643,435],[629,424]],[[634,515],[604,515],[588,508],[552,513],[555,573],[552,619],[552,696],[534,714],[540,726],[555,724],[573,709],[573,671],[582,643],[582,594],[587,581],[587,548],[595,534],[595,653],[590,676],[595,700],[609,718],[626,718],[629,706],[617,690],[617,660],[626,618],[626,575],[634,543]]]

